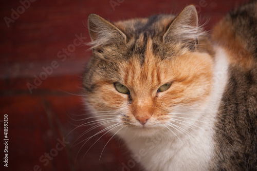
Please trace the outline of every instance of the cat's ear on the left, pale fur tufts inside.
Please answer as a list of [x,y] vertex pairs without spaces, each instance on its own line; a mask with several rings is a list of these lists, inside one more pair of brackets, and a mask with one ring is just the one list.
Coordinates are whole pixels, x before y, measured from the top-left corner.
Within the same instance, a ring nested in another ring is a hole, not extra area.
[[113,43],[125,43],[126,35],[111,22],[97,14],[89,14],[88,29],[92,48]]

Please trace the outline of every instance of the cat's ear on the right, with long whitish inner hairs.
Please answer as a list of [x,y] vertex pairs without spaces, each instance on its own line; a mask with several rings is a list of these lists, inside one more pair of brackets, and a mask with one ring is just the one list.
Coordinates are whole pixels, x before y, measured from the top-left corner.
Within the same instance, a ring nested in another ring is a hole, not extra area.
[[163,35],[166,43],[181,43],[190,49],[194,49],[198,44],[198,16],[193,5],[187,6],[173,20],[170,27]]

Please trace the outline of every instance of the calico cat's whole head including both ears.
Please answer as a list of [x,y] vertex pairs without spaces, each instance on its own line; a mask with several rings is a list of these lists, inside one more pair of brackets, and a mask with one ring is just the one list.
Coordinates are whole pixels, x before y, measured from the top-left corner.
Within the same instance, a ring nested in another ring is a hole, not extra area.
[[173,116],[203,108],[214,61],[194,6],[176,17],[114,24],[90,14],[88,28],[93,56],[83,85],[86,103],[103,125],[150,136],[173,129]]

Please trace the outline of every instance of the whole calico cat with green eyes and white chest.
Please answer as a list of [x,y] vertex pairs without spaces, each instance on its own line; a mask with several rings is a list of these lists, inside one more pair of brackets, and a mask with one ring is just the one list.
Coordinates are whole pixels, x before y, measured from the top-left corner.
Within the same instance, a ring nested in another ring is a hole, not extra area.
[[257,170],[255,1],[211,35],[193,5],[88,29],[87,109],[144,170]]

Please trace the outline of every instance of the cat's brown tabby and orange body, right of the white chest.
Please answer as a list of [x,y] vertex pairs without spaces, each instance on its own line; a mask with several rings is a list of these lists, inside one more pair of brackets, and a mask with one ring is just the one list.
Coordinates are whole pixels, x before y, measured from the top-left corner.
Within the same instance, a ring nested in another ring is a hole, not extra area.
[[257,170],[257,3],[231,11],[212,36],[229,61],[215,123],[214,168]]

